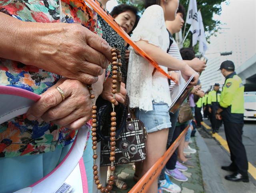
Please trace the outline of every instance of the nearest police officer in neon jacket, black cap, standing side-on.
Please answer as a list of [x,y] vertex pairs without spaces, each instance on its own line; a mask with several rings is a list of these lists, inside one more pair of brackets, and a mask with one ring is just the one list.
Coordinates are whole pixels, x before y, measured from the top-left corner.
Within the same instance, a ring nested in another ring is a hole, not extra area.
[[229,166],[222,166],[221,168],[234,172],[231,175],[226,175],[225,179],[248,182],[248,161],[242,143],[244,86],[241,78],[234,72],[235,66],[232,61],[222,62],[220,70],[226,80],[220,96],[220,108],[216,112],[216,118],[222,119],[224,122],[232,161]]

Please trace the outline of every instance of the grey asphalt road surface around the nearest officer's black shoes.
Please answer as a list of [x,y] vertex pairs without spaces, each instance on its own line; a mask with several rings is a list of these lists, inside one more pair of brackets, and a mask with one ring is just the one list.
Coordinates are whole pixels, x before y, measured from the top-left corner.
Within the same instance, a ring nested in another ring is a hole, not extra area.
[[[210,125],[208,120],[204,119],[204,122],[207,125]],[[256,180],[250,175],[250,183],[235,183],[230,182],[224,179],[225,175],[228,175],[229,172],[220,169],[222,165],[229,165],[230,164],[230,155],[228,151],[222,146],[219,141],[215,140],[210,133],[209,129],[206,129],[208,133],[206,133],[203,129],[201,129],[200,134],[202,135],[204,142],[206,143],[211,155],[212,159],[214,160],[214,167],[217,173],[222,178],[222,185],[225,189],[226,193],[255,193],[256,192]],[[220,132],[218,133],[220,138],[222,137],[223,141],[226,140],[224,134],[224,128],[220,128]],[[243,133],[243,141],[248,155],[248,161],[256,166],[256,123],[255,122],[246,122],[244,125],[244,133]],[[217,139],[217,138],[216,138]],[[222,141],[222,143],[223,143]],[[219,179],[212,179],[213,181]]]

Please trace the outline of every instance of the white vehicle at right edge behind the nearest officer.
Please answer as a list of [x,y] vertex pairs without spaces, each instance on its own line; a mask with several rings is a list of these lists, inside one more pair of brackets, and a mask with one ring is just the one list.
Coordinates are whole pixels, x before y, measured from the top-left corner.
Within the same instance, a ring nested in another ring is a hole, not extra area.
[[244,93],[244,120],[256,121],[256,93]]

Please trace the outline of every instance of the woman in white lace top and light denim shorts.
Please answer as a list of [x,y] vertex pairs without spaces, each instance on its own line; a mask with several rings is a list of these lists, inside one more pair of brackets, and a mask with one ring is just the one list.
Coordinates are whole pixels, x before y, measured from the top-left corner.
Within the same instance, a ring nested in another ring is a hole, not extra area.
[[[160,68],[165,72],[168,68],[180,70],[183,78],[188,80],[196,72],[185,62],[166,53],[169,35],[165,20],[174,20],[177,8],[178,0],[146,1],[146,10],[133,31],[132,40],[161,65]],[[168,79],[158,71],[152,75],[153,71],[154,67],[132,49],[127,77],[130,107],[135,108],[136,117],[143,121],[148,132],[147,156],[142,163],[139,177],[142,177],[166,151],[168,128],[171,127]],[[191,86],[197,83],[198,77],[196,74]],[[150,186],[150,193],[157,192],[157,181],[154,180]]]

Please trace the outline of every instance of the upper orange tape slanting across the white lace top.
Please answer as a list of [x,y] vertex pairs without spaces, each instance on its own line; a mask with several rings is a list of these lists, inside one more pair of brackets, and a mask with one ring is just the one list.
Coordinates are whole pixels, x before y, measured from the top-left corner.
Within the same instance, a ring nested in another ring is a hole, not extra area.
[[97,0],[85,0],[91,7],[96,11],[130,46],[136,50],[140,56],[148,60],[158,71],[160,71],[164,76],[176,82],[173,78],[171,78],[158,64],[146,54],[141,48],[139,48],[134,41],[130,38],[130,36],[116,23],[114,18],[100,5]]

